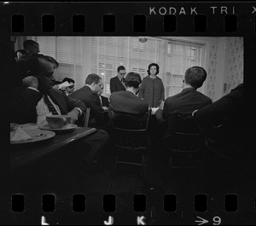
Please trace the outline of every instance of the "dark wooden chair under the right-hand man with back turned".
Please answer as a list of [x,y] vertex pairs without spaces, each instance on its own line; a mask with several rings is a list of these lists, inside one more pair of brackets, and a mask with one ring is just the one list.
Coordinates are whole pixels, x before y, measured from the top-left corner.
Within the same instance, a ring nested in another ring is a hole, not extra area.
[[[197,169],[200,178],[203,177],[204,139],[199,126],[192,117],[171,113],[167,119],[167,135],[164,138],[165,150],[168,155],[166,183],[172,169]],[[178,161],[179,160],[179,161]]]

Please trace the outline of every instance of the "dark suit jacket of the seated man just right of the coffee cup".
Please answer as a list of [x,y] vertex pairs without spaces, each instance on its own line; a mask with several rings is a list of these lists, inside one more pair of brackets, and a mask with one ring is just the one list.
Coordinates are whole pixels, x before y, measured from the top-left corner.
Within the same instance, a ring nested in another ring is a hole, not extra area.
[[90,107],[90,127],[103,128],[107,124],[108,115],[106,116],[102,109],[99,96],[90,90],[90,87],[84,85],[81,89],[74,91],[71,97],[83,101],[86,107]]

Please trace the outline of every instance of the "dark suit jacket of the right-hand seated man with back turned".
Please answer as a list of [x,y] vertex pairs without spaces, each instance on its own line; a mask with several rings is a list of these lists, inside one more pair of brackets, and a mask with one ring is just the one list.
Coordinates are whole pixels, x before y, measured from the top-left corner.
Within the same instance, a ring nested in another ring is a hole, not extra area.
[[194,88],[186,88],[177,95],[166,98],[163,118],[166,120],[169,114],[173,112],[189,114],[191,116],[191,113],[196,109],[211,103],[212,100],[201,92],[196,91]]

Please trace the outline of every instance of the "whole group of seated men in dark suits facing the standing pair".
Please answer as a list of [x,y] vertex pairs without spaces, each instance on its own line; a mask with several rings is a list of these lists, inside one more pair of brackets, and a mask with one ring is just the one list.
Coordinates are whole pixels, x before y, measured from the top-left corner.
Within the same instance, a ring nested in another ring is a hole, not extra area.
[[[44,124],[46,115],[50,114],[49,102],[55,107],[58,114],[71,116],[72,122],[83,119],[86,107],[90,107],[90,127],[97,128],[97,132],[79,142],[80,149],[86,149],[84,160],[89,164],[96,159],[108,142],[108,113],[102,108],[101,96],[103,90],[102,78],[91,73],[85,79],[84,86],[74,91],[70,96],[64,95],[61,90],[53,89],[54,72],[58,67],[52,57],[46,55],[29,55],[20,61],[21,67],[18,78],[22,79],[22,85],[11,92],[10,121],[18,124],[38,123]],[[212,100],[196,91],[207,78],[207,72],[202,67],[190,67],[183,76],[183,90],[166,98],[163,109],[157,109],[156,119],[160,124],[166,124],[168,115],[172,112],[193,115],[201,123],[213,119],[219,119],[222,114],[230,113],[230,106],[241,107],[243,98],[243,86],[238,87],[239,94],[233,99],[230,93],[230,101],[220,100],[212,104]],[[131,113],[134,116],[142,116],[148,112],[148,104],[137,96],[142,84],[142,78],[137,72],[129,72],[125,77],[126,90],[113,92],[109,98],[109,107],[120,113]],[[235,92],[237,93],[237,91]],[[224,96],[225,97],[225,96]],[[234,104],[233,102],[238,103]],[[226,107],[226,108],[225,108]],[[228,110],[227,110],[228,109]],[[140,118],[142,119],[142,118]],[[81,145],[82,143],[82,145]]]

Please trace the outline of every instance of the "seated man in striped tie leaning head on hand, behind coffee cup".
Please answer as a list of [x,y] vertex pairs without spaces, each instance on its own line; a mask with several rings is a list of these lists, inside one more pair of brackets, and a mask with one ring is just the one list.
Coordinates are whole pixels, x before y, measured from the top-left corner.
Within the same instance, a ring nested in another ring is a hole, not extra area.
[[[85,111],[82,101],[66,96],[60,90],[52,89],[55,66],[48,57],[31,55],[20,63],[24,64],[24,67],[20,67],[23,68],[23,71],[20,71],[24,77],[23,86],[11,92],[11,122],[44,124],[47,114],[67,114],[71,116],[72,122],[75,122],[82,116]],[[90,164],[107,141],[108,134],[104,130],[98,130],[96,134],[79,142],[78,147],[84,161]]]

